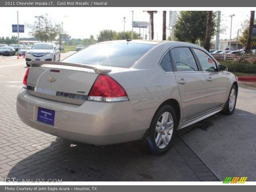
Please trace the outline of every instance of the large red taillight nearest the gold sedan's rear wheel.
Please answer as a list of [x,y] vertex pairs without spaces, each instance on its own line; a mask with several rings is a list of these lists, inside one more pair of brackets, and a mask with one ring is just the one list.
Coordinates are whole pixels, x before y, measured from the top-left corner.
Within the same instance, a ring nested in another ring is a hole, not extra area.
[[107,75],[99,75],[92,85],[88,100],[113,102],[126,101],[128,98],[116,80]]

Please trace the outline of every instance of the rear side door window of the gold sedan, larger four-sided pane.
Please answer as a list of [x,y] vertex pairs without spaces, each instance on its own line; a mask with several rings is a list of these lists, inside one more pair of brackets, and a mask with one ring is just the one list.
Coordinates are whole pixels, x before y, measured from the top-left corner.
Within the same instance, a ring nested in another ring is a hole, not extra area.
[[198,71],[195,58],[188,47],[177,47],[171,50],[177,71]]

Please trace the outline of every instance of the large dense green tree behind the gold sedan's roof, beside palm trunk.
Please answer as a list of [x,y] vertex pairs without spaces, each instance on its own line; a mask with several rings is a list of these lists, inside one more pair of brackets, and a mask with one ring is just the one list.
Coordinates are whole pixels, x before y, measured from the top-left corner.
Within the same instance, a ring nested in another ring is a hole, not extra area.
[[[212,12],[211,38],[216,34],[217,12]],[[175,25],[175,37],[179,41],[195,43],[205,40],[208,11],[180,11]]]

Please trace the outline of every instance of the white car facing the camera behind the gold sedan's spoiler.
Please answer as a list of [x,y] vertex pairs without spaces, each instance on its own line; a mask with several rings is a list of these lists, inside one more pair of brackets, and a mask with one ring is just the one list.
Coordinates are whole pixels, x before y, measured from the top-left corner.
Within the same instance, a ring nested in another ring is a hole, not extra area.
[[26,65],[30,61],[60,61],[60,50],[54,43],[35,43],[26,52]]

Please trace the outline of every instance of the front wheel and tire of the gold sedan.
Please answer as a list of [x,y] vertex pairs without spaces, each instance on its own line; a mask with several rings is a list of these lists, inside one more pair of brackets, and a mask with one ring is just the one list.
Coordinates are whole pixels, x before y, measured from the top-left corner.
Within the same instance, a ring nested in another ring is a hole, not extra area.
[[236,98],[237,98],[237,88],[236,85],[232,85],[230,92],[228,94],[228,100],[221,111],[222,114],[232,115],[236,108]]

